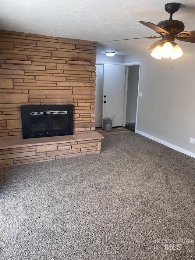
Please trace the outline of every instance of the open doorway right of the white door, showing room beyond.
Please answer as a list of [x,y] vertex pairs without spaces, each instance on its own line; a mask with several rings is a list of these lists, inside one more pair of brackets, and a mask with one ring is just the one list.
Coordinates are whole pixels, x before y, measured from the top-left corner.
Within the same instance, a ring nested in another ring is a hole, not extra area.
[[140,64],[126,66],[126,91],[123,127],[135,132],[137,119],[137,101],[139,88]]

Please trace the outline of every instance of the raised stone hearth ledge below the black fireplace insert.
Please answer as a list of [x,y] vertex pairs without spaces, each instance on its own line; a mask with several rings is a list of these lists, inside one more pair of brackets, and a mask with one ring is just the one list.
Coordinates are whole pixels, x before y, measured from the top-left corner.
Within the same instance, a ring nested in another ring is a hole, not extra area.
[[96,132],[29,139],[22,139],[21,136],[1,137],[0,166],[98,154],[102,138],[104,137]]

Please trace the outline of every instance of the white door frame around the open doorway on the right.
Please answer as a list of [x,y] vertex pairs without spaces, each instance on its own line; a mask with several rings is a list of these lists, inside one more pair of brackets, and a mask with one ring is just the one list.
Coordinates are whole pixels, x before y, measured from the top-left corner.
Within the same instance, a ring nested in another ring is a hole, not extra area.
[[139,102],[139,91],[140,91],[140,72],[141,72],[141,62],[129,62],[123,63],[126,66],[125,68],[125,88],[124,88],[124,102],[123,102],[123,119],[122,126],[126,125],[126,107],[127,107],[127,89],[128,89],[128,67],[134,65],[140,65],[139,68],[139,79],[138,79],[138,90],[137,90],[137,108],[136,108],[136,121],[135,121],[135,133],[137,130],[137,111],[138,111],[138,102]]

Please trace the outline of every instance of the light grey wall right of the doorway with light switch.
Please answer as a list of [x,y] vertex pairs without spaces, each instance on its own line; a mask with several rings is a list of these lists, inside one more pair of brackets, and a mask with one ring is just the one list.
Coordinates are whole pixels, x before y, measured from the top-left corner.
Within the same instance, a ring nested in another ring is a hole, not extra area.
[[[181,45],[184,55],[157,60],[150,51],[124,57],[140,62],[137,130],[195,153],[195,45]],[[166,65],[166,73],[165,73]]]

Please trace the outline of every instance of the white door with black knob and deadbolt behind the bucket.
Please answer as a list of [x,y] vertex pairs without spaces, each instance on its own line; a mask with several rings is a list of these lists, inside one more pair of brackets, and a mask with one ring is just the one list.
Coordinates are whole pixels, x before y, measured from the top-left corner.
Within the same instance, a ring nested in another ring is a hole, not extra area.
[[122,126],[125,66],[104,64],[103,118],[115,115],[112,126]]

